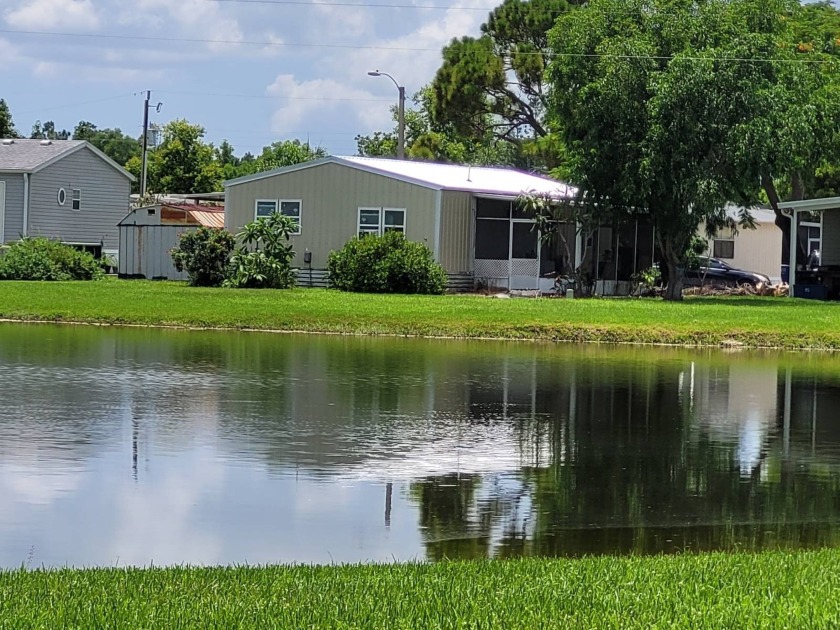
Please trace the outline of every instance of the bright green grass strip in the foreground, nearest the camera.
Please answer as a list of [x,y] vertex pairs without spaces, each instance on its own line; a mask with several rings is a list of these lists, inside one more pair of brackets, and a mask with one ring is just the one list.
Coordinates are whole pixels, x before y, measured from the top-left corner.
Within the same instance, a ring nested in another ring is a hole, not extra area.
[[840,551],[0,573],[0,628],[836,628]]

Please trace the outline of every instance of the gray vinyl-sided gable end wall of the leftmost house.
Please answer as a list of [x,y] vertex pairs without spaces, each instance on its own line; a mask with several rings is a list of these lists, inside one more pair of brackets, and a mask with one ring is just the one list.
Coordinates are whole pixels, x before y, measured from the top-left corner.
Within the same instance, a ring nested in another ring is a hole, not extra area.
[[[63,206],[59,188],[67,193]],[[74,188],[82,191],[78,211],[73,210]],[[32,175],[29,233],[117,249],[117,223],[128,214],[130,192],[127,177],[83,148]]]

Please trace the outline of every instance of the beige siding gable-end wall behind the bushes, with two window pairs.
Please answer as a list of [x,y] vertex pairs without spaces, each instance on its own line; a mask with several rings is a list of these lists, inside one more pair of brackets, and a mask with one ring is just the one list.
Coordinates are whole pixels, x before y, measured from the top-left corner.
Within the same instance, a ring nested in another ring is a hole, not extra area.
[[257,199],[300,199],[301,233],[292,237],[296,257],[312,252],[312,267],[324,269],[327,256],[358,230],[360,207],[405,208],[406,238],[435,247],[436,191],[366,173],[341,164],[322,164],[230,186],[225,191],[225,227],[237,232],[254,220]]

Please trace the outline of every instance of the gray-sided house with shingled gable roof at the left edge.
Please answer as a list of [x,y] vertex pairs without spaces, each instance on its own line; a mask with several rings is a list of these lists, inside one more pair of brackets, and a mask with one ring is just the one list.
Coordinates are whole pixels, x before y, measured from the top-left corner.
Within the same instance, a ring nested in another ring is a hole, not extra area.
[[48,236],[116,257],[133,180],[84,140],[0,140],[0,244]]

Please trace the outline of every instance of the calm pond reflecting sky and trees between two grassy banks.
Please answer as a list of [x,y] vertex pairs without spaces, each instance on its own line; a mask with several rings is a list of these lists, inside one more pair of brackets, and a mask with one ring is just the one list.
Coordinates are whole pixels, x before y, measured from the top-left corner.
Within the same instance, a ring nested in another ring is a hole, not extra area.
[[818,353],[0,325],[0,566],[840,545]]

